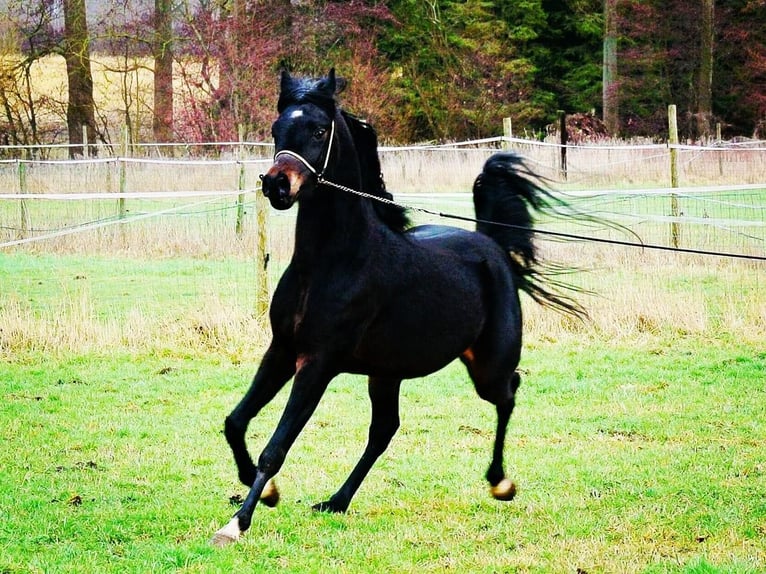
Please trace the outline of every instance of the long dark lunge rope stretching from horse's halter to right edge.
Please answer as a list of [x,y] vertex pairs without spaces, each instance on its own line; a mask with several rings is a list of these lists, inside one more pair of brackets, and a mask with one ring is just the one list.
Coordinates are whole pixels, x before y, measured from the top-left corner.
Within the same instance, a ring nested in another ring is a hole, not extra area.
[[731,257],[733,259],[747,259],[750,261],[766,261],[766,255],[747,255],[744,253],[728,253],[723,251],[707,251],[702,249],[691,249],[687,247],[669,247],[667,245],[658,245],[653,243],[634,243],[632,241],[624,241],[620,239],[606,239],[601,237],[588,237],[585,235],[578,235],[575,233],[565,233],[562,231],[550,231],[547,229],[537,229],[537,228],[530,228],[523,225],[514,225],[512,223],[501,223],[499,221],[487,221],[482,219],[476,219],[474,217],[467,217],[463,215],[456,215],[454,213],[445,213],[443,211],[435,211],[432,209],[426,209],[425,207],[413,207],[408,205],[403,205],[400,203],[397,203],[396,201],[392,199],[388,199],[386,197],[379,197],[377,195],[372,195],[371,193],[365,193],[363,191],[358,191],[356,189],[347,187],[345,185],[341,185],[338,183],[334,183],[332,181],[329,181],[323,177],[319,178],[319,183],[322,185],[327,185],[329,187],[334,187],[335,189],[345,191],[346,193],[351,193],[353,195],[358,195],[359,197],[364,197],[367,199],[372,199],[375,201],[379,201],[381,203],[385,203],[388,205],[394,205],[396,207],[401,207],[403,209],[409,209],[412,211],[417,211],[419,213],[425,213],[427,215],[432,215],[435,217],[440,217],[443,219],[454,219],[456,221],[464,221],[468,223],[482,223],[486,225],[495,225],[497,227],[506,227],[510,229],[518,229],[521,231],[530,231],[532,233],[537,233],[538,235],[549,235],[551,237],[559,237],[561,239],[569,239],[573,241],[587,241],[591,243],[604,243],[608,245],[619,245],[623,247],[640,247],[641,249],[652,249],[656,251],[671,251],[675,253],[688,253],[693,255],[706,255],[711,257]]

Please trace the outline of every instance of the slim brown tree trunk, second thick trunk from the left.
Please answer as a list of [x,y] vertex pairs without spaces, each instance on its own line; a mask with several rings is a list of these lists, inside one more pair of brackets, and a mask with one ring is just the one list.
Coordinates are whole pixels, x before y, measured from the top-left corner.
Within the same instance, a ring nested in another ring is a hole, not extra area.
[[154,0],[154,116],[157,142],[173,140],[173,15],[171,0]]

